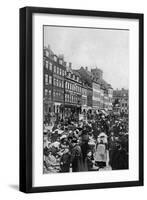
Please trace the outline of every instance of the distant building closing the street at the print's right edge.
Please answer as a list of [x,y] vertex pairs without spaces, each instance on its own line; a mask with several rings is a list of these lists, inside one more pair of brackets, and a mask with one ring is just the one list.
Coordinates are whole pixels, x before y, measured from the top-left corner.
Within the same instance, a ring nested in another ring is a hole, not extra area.
[[116,112],[128,114],[129,111],[129,91],[122,88],[113,91],[113,109]]

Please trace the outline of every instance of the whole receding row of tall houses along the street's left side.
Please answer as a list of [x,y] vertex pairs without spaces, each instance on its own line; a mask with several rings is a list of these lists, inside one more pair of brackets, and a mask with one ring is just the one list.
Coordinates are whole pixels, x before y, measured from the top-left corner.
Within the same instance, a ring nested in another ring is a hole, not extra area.
[[74,69],[63,55],[57,56],[48,46],[43,50],[43,76],[44,118],[112,110],[113,88],[103,79],[101,69]]

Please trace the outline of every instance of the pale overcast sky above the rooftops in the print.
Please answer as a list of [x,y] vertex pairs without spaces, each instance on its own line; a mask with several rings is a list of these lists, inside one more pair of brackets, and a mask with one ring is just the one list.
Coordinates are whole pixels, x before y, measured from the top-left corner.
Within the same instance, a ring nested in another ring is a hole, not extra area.
[[98,67],[116,88],[129,87],[129,31],[70,27],[44,27],[44,46],[64,54],[73,69]]

